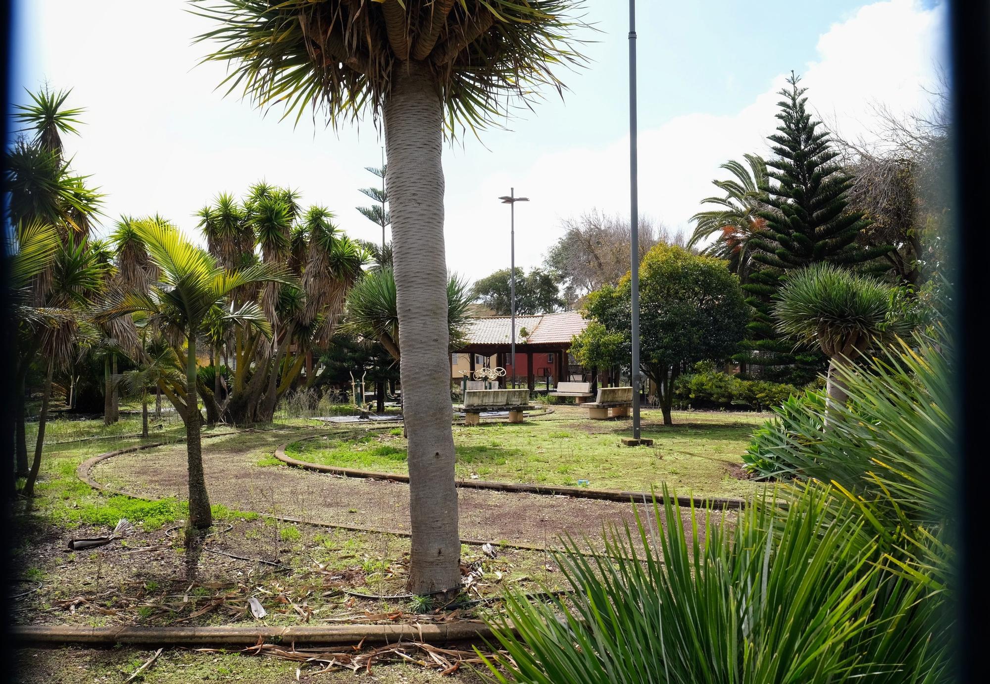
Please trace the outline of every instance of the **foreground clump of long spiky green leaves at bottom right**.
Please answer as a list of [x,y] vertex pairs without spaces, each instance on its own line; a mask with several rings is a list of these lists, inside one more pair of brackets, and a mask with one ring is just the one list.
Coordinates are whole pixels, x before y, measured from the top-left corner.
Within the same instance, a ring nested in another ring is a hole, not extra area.
[[883,642],[900,621],[918,633],[903,645],[924,650],[936,606],[918,609],[924,590],[884,571],[864,518],[828,487],[788,494],[786,507],[769,490],[735,526],[707,512],[703,528],[695,510],[682,526],[686,512],[664,494],[637,531],[605,537],[604,555],[565,542],[556,559],[570,597],[507,597],[492,621],[507,653],[490,663],[495,680],[901,682],[944,666],[943,639],[911,662]]

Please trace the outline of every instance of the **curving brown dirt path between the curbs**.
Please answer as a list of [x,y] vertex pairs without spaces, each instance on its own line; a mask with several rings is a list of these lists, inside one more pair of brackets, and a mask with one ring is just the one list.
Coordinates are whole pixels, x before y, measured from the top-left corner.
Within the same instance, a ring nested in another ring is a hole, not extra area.
[[[239,436],[203,443],[214,504],[344,525],[409,530],[409,486],[342,478],[285,465],[259,466],[283,436]],[[263,443],[261,443],[263,442]],[[187,497],[185,449],[163,446],[126,453],[97,464],[93,477],[155,497]],[[458,490],[461,537],[554,545],[557,537],[600,537],[603,527],[635,528],[633,506],[608,501]],[[644,506],[639,505],[641,516]],[[721,515],[721,514],[717,514]],[[682,514],[685,522],[689,514]],[[704,521],[699,521],[703,526]],[[690,532],[688,524],[687,530]],[[701,528],[703,532],[703,527]]]

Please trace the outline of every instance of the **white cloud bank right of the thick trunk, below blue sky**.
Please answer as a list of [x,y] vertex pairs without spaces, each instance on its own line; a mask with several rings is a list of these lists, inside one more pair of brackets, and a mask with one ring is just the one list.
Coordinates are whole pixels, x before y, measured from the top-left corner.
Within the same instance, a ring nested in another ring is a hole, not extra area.
[[[868,5],[833,25],[818,42],[818,58],[795,65],[795,70],[809,88],[810,105],[822,117],[838,122],[843,135],[855,136],[871,130],[872,107],[877,103],[894,112],[919,111],[929,105],[925,88],[938,85],[945,28],[943,6],[925,9],[917,0]],[[719,165],[742,158],[745,152],[767,153],[765,137],[778,123],[777,92],[786,75],[770,79],[766,89],[735,115],[691,114],[641,131],[641,213],[670,228],[690,230],[688,219],[698,211],[700,200],[715,190],[711,180],[725,175]],[[517,242],[517,263],[536,265],[559,236],[561,217],[594,207],[628,216],[629,138],[605,147],[545,154],[512,177],[535,199],[517,207],[522,238]],[[448,178],[448,262],[468,261],[469,250],[460,244],[465,226],[485,235],[505,235],[508,217],[476,208],[488,206],[509,184],[503,173],[481,182],[474,177]],[[477,276],[492,269],[481,265],[465,270]]]

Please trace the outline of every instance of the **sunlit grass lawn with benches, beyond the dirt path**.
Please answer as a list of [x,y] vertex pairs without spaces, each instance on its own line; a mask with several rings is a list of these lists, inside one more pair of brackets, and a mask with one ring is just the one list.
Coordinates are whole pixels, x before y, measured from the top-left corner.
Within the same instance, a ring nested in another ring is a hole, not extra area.
[[[752,413],[675,412],[663,427],[657,411],[644,411],[643,437],[651,447],[622,446],[631,421],[590,421],[573,407],[554,407],[522,425],[482,420],[454,426],[457,476],[505,482],[648,490],[663,483],[679,493],[745,496],[757,486],[741,479],[742,454],[752,431],[766,420]],[[407,472],[402,429],[338,432],[298,441],[286,452],[327,465]]]

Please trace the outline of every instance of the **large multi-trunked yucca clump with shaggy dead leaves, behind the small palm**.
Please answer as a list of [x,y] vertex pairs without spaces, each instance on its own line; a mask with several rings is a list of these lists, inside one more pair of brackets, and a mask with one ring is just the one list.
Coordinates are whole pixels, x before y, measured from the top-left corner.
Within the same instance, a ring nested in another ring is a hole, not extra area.
[[203,402],[210,421],[268,423],[279,398],[298,380],[308,352],[330,342],[344,309],[347,288],[361,273],[364,251],[338,229],[334,214],[313,205],[303,210],[299,193],[261,181],[243,200],[221,193],[198,213],[207,248],[226,268],[255,262],[284,269],[301,287],[268,283],[231,293],[230,306],[259,304],[273,329],[207,326],[214,359],[234,368],[221,399],[220,375]]

